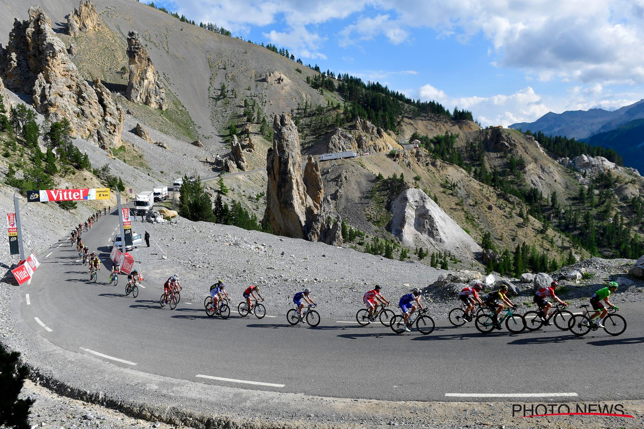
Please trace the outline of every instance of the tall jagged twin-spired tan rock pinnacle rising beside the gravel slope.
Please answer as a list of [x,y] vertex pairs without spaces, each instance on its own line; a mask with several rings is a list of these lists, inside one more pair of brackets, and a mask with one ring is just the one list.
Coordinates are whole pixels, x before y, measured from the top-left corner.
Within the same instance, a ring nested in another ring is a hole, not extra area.
[[[273,147],[266,161],[267,206],[263,223],[270,224],[277,235],[341,245],[340,220],[331,200],[323,199],[319,167],[312,157],[308,158],[305,174],[302,172],[298,128],[289,114],[273,120]],[[329,218],[337,221],[328,221]]]

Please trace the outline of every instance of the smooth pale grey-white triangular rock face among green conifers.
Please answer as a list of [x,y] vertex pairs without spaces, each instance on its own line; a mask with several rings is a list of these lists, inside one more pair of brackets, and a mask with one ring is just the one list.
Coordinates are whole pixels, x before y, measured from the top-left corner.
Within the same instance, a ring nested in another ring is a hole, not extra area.
[[428,247],[470,257],[480,246],[422,190],[409,188],[392,203],[388,229],[404,246]]

